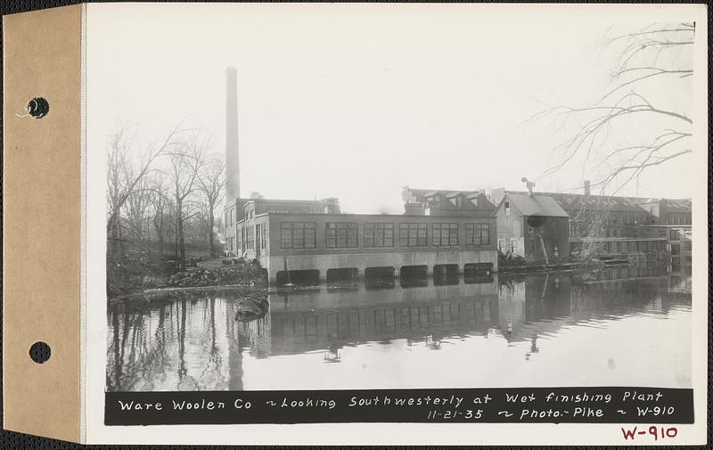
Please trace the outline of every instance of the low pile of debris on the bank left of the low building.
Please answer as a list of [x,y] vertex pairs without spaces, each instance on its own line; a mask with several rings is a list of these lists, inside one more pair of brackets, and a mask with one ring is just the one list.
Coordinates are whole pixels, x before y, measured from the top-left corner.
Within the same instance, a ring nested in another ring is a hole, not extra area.
[[265,270],[251,262],[235,262],[233,266],[192,267],[168,278],[168,287],[188,288],[217,286],[222,284],[242,284],[265,286]]

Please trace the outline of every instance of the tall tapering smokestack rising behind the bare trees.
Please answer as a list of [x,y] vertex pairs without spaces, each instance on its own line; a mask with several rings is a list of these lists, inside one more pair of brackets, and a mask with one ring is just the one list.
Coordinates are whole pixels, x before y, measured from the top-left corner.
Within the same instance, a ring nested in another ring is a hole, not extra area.
[[238,150],[238,71],[225,68],[225,200],[240,198]]

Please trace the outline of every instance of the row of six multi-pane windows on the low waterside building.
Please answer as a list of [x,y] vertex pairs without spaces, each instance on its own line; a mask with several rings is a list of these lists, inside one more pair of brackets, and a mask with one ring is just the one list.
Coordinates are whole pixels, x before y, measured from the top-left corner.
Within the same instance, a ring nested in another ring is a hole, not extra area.
[[[465,241],[463,245],[490,245],[489,224],[463,224]],[[429,245],[428,224],[398,224],[399,247],[426,247]],[[430,245],[455,247],[459,245],[459,225],[436,223],[431,225]],[[315,222],[283,222],[281,247],[283,250],[315,249]],[[324,228],[327,249],[356,249],[359,246],[357,222],[327,222]],[[363,245],[365,248],[393,248],[394,224],[366,222],[363,225]]]

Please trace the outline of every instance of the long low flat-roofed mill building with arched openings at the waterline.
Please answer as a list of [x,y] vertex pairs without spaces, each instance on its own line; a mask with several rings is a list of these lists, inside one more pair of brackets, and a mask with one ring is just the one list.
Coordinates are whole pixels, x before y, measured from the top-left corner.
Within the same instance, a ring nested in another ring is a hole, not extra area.
[[[246,214],[249,206],[246,205]],[[287,213],[247,215],[235,224],[237,254],[257,259],[269,282],[347,271],[399,277],[411,269],[464,274],[497,270],[496,218]]]

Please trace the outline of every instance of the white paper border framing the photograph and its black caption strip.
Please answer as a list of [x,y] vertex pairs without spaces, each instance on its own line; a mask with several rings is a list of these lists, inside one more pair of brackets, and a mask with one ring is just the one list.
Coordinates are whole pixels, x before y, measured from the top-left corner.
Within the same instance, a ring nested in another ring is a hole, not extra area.
[[[102,41],[95,33],[102,20],[111,20],[116,12],[155,13],[155,8],[172,4],[89,4],[86,6],[86,129],[102,117],[93,116],[92,54],[101,51]],[[184,6],[185,7],[185,6]],[[192,7],[201,8],[200,4]],[[86,153],[86,333],[83,335],[86,382],[84,393],[86,421],[83,438],[88,444],[234,444],[234,445],[694,445],[707,437],[708,398],[708,29],[703,4],[241,4],[225,8],[291,8],[304,12],[311,8],[333,14],[355,10],[378,14],[383,10],[420,10],[428,14],[434,8],[458,14],[463,8],[494,14],[502,20],[504,33],[518,33],[517,20],[528,20],[543,13],[552,22],[567,20],[569,14],[593,17],[605,15],[612,21],[696,20],[694,46],[694,151],[695,160],[688,173],[671,174],[693,180],[693,387],[695,423],[676,425],[676,439],[658,442],[652,439],[625,441],[621,427],[627,424],[533,424],[533,423],[324,423],[298,425],[174,425],[111,426],[103,425],[106,375],[107,308],[105,284],[105,184],[106,153],[90,148]],[[211,5],[213,11],[217,5]],[[517,15],[509,15],[518,12]],[[202,17],[202,16],[201,16]],[[310,20],[303,16],[300,20]],[[126,30],[130,33],[131,30]],[[120,36],[101,36],[121,39]],[[285,39],[289,37],[285,36]],[[120,66],[119,66],[120,67]],[[120,69],[119,69],[120,70]],[[434,387],[436,388],[436,387]],[[476,387],[473,387],[476,388]],[[488,388],[487,386],[477,388]],[[513,387],[515,388],[515,387]],[[632,425],[633,426],[633,425]]]

